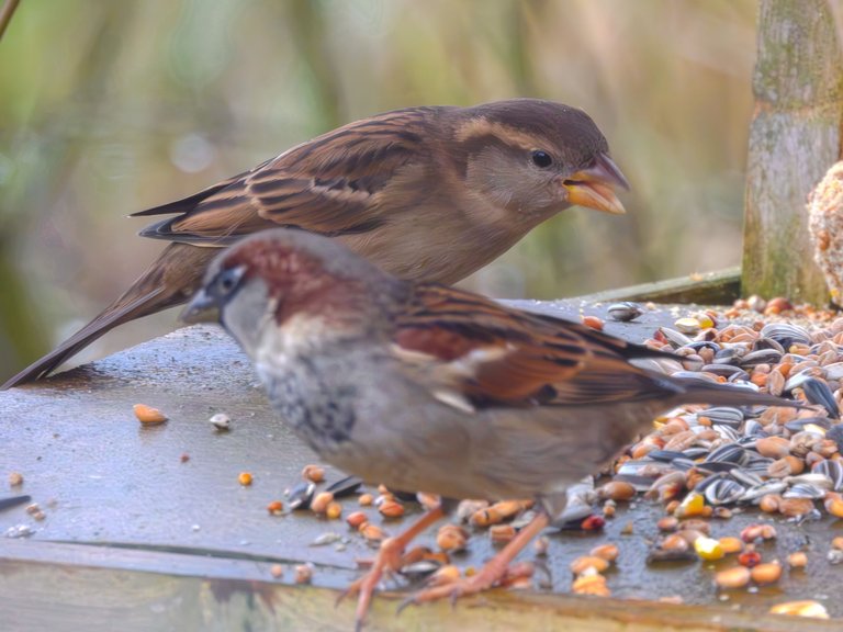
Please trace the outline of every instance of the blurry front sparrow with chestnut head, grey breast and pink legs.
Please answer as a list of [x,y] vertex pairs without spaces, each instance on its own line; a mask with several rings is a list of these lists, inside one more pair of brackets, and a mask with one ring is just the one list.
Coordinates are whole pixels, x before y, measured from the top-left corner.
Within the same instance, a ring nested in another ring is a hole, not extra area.
[[[565,487],[681,403],[785,404],[638,368],[667,354],[442,285],[392,276],[336,241],[276,229],[222,252],[182,314],[239,342],[283,420],[370,483],[442,498],[530,498],[538,517],[476,575],[415,601],[486,589],[558,517]],[[445,512],[387,540],[352,585],[358,624],[383,571]]]

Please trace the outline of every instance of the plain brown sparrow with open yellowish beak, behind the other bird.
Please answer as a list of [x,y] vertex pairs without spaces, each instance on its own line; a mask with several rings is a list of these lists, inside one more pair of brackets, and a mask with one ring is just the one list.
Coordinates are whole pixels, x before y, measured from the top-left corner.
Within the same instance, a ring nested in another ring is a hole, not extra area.
[[37,380],[108,330],[184,303],[215,248],[269,227],[335,238],[403,279],[454,283],[554,214],[623,213],[628,188],[581,110],[514,99],[350,123],[184,200],[140,235],[171,241],[114,303],[0,388]]

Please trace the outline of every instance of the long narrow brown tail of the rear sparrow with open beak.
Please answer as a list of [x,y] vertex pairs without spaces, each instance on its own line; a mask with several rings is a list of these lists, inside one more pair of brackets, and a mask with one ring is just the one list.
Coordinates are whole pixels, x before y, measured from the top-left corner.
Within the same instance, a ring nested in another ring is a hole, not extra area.
[[187,302],[216,248],[171,244],[116,301],[55,350],[11,377],[0,391],[48,375],[68,358],[119,325]]

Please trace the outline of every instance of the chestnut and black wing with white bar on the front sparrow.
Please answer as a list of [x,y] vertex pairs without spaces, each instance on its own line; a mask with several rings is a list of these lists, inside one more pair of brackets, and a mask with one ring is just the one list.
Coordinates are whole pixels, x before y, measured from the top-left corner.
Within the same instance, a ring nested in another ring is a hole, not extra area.
[[427,357],[475,407],[633,402],[672,392],[628,362],[667,354],[439,285],[416,286],[394,342]]

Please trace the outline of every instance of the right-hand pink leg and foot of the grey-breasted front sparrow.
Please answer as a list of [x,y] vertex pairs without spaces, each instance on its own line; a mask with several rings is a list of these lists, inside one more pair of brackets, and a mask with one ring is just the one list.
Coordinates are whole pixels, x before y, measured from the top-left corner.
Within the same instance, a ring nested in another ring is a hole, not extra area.
[[[448,597],[457,600],[464,595],[473,595],[492,588],[502,583],[508,576],[509,564],[530,543],[530,541],[541,533],[549,523],[548,515],[539,512],[529,524],[521,529],[504,549],[490,560],[483,568],[471,577],[464,577],[441,586],[432,586],[416,592],[401,605],[398,610],[406,608],[411,603],[423,603],[425,601],[436,601]],[[520,573],[519,573],[520,574]]]

